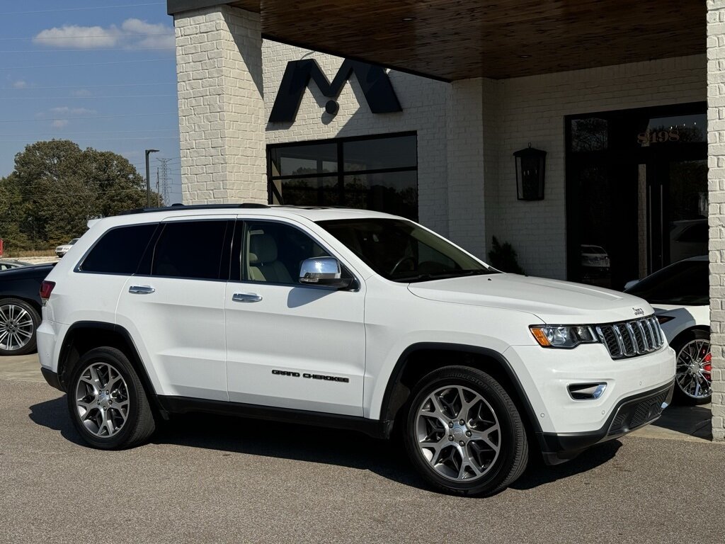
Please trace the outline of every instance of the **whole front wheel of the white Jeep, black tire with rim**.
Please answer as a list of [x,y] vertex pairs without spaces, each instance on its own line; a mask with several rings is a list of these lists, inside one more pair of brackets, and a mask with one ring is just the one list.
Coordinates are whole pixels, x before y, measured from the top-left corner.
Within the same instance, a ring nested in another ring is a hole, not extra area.
[[441,368],[421,379],[411,397],[405,448],[436,489],[494,495],[526,469],[529,442],[521,415],[489,374],[465,366]]

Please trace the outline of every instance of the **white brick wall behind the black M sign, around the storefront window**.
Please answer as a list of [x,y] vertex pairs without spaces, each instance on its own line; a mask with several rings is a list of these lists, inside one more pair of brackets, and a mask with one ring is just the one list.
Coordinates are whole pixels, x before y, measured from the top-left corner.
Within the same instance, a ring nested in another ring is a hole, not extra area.
[[[341,57],[268,40],[262,44],[262,51],[265,122],[272,110],[287,62],[302,58],[316,59],[330,81],[343,62]],[[447,235],[446,99],[450,86],[395,71],[391,71],[389,77],[402,112],[380,115],[370,112],[368,102],[353,75],[337,100],[340,110],[332,117],[325,112],[328,99],[312,82],[305,91],[294,123],[266,123],[267,143],[417,131],[419,219],[429,228]]]

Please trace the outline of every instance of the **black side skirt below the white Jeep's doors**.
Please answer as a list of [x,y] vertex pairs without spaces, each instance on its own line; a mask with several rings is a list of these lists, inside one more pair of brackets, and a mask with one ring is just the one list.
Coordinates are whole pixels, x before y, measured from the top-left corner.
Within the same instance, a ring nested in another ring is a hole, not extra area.
[[168,413],[218,413],[224,416],[265,419],[267,421],[281,421],[283,423],[312,425],[331,429],[348,429],[380,439],[389,438],[392,430],[392,421],[344,416],[335,413],[166,395],[158,395],[157,400],[162,410]]

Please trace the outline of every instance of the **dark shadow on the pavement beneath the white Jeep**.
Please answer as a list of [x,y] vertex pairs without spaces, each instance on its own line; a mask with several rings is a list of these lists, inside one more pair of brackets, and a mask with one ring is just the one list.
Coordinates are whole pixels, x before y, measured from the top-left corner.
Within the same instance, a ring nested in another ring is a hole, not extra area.
[[[30,419],[57,431],[66,440],[86,446],[67,415],[65,396],[30,406]],[[327,463],[369,470],[394,482],[430,490],[407,459],[400,440],[377,440],[353,431],[285,424],[232,416],[188,413],[162,421],[152,437],[154,444],[277,457],[294,461]],[[607,442],[558,466],[543,466],[537,459],[511,487],[527,490],[568,478],[606,463],[621,444]]]

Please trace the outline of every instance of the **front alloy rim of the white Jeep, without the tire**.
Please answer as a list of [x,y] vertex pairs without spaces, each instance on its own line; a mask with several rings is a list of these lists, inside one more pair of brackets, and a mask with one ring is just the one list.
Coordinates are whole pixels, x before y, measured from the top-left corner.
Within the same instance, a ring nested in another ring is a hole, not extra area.
[[501,450],[492,406],[468,387],[442,387],[418,408],[416,437],[423,458],[442,477],[470,482],[483,477]]

